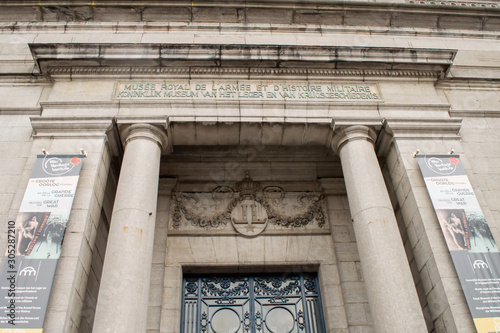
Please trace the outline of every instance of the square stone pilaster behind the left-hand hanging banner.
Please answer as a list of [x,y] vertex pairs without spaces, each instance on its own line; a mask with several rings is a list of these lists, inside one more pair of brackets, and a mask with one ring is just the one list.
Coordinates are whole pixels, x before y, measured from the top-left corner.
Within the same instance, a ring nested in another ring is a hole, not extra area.
[[111,118],[32,117],[31,126],[33,143],[25,169],[21,170],[24,177],[17,195],[19,199],[13,203],[15,212],[21,204],[36,155],[42,148],[51,154],[78,153],[80,148],[87,152],[43,325],[46,333],[76,333],[81,326],[83,298],[96,242],[95,230],[106,206],[105,188],[111,156],[116,154],[119,144],[115,140]]

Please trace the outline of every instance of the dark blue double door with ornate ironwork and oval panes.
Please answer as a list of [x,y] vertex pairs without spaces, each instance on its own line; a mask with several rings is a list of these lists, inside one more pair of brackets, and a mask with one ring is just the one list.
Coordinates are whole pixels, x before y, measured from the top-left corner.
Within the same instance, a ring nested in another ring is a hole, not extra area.
[[326,333],[316,274],[185,276],[182,333]]

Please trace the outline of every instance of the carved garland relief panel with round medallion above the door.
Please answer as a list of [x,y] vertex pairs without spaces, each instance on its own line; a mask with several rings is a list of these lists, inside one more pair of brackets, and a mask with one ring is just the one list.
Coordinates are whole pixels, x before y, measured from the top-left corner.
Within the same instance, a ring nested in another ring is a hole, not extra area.
[[253,181],[247,173],[234,188],[212,192],[175,192],[170,209],[174,229],[235,230],[256,236],[268,225],[274,229],[323,228],[323,196],[316,192],[286,192],[279,186]]

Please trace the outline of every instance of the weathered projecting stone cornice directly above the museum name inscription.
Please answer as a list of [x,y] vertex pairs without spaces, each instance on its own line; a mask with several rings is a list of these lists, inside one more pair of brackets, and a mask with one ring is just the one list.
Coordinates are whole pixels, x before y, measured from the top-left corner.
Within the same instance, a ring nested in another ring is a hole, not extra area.
[[456,50],[441,49],[293,45],[54,43],[30,44],[30,48],[42,73],[51,68],[51,75],[71,77],[298,74],[437,78],[456,54]]

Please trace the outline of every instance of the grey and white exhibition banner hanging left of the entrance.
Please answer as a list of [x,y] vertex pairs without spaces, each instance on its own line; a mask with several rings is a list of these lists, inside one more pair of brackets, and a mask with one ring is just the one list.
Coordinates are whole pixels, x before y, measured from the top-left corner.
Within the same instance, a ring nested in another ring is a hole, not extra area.
[[0,333],[41,333],[83,155],[38,155],[21,208],[7,225]]

